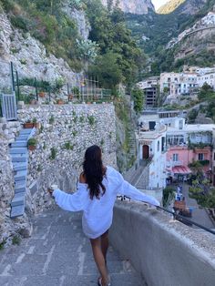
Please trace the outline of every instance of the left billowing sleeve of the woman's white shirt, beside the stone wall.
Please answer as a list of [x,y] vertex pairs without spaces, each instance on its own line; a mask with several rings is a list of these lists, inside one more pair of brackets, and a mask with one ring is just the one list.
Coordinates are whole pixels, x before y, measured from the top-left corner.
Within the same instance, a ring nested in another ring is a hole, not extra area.
[[83,210],[85,208],[87,195],[87,189],[79,184],[77,184],[77,192],[74,194],[67,194],[60,189],[55,189],[53,192],[56,204],[61,209],[70,211]]

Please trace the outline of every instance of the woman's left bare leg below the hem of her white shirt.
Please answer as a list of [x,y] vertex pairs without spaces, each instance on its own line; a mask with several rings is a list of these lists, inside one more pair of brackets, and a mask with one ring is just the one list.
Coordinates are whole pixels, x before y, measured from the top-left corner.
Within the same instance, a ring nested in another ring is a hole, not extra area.
[[97,269],[101,274],[102,286],[106,286],[108,283],[107,268],[104,255],[101,250],[101,240],[98,238],[95,240],[90,240],[90,242],[93,250],[94,260],[97,263]]

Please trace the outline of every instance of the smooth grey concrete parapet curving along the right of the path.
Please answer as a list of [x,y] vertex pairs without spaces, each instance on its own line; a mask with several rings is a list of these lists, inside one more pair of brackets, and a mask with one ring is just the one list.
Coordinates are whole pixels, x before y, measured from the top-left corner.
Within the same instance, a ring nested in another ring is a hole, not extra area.
[[157,209],[118,201],[110,240],[148,286],[214,285],[215,236]]

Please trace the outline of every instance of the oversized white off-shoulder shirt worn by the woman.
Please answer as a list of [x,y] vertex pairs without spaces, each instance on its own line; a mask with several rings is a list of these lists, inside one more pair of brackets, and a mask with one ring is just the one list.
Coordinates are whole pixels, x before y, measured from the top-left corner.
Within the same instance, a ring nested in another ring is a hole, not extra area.
[[157,199],[130,185],[112,167],[107,167],[106,176],[102,183],[106,191],[104,195],[100,195],[99,199],[96,197],[90,199],[89,190],[85,183],[77,183],[77,192],[74,194],[68,194],[60,189],[55,189],[53,192],[56,204],[60,208],[70,211],[83,210],[82,228],[90,239],[96,239],[110,228],[113,219],[114,203],[118,194],[159,206]]

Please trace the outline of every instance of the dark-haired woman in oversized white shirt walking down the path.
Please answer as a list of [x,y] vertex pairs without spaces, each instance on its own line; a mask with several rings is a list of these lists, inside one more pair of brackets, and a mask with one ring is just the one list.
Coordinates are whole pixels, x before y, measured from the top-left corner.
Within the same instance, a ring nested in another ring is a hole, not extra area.
[[86,150],[77,192],[67,194],[60,189],[49,189],[49,192],[60,208],[70,211],[83,210],[83,231],[91,242],[97,269],[101,275],[97,284],[110,285],[106,260],[108,230],[112,223],[117,195],[146,201],[154,206],[159,206],[159,201],[130,185],[116,169],[105,167],[102,163],[101,149],[96,145]]

